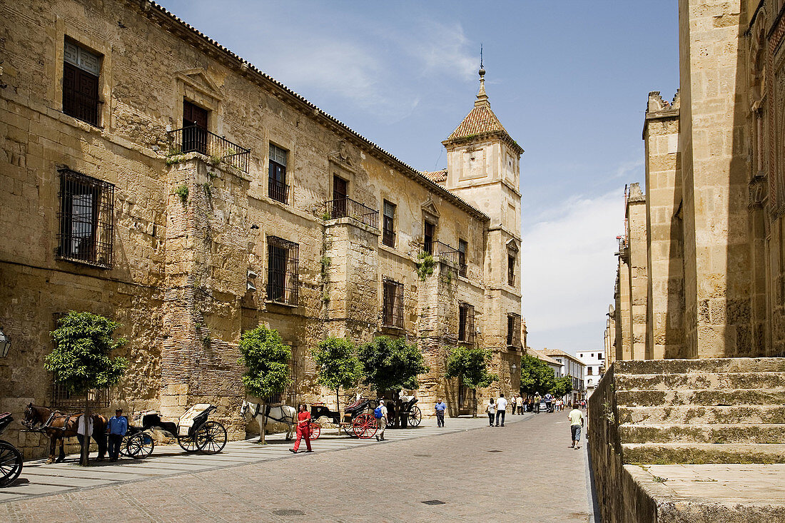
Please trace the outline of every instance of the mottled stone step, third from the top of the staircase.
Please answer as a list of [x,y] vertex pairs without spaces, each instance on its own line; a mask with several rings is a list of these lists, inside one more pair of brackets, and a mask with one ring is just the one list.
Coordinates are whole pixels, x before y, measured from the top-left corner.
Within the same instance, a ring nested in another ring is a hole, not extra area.
[[785,405],[785,390],[617,390],[616,404],[625,407],[662,407],[666,405]]

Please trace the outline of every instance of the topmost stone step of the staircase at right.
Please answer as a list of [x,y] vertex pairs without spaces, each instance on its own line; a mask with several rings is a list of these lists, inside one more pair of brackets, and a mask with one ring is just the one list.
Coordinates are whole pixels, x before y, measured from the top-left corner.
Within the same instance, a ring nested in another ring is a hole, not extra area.
[[615,375],[682,372],[785,372],[785,358],[711,358],[705,360],[614,361]]

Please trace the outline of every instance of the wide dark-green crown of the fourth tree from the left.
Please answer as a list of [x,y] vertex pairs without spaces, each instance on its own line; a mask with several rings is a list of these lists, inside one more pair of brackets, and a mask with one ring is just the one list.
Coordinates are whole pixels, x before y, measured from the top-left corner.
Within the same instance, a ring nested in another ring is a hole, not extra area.
[[377,336],[364,343],[357,351],[368,385],[378,392],[386,390],[416,389],[418,375],[430,369],[416,345],[403,338]]

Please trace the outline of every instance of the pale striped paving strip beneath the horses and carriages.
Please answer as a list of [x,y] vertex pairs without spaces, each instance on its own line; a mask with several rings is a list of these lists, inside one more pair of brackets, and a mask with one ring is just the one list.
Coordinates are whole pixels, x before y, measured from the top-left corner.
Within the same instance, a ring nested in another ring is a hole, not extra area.
[[[524,416],[510,416],[508,422],[520,421]],[[400,441],[417,437],[433,436],[442,433],[460,432],[487,425],[487,418],[447,419],[444,428],[436,427],[436,419],[423,419],[420,426],[414,429],[388,429],[385,436],[389,441]],[[84,488],[120,485],[132,481],[144,481],[155,477],[168,477],[205,470],[221,469],[227,466],[241,466],[249,463],[261,463],[270,459],[293,457],[291,448],[293,441],[285,441],[285,434],[272,434],[266,437],[268,444],[257,444],[257,438],[246,441],[229,441],[224,450],[214,455],[199,453],[187,454],[179,445],[156,445],[155,451],[147,459],[123,458],[119,462],[109,463],[108,459],[99,462],[91,455],[91,466],[84,468],[77,463],[79,455],[68,455],[64,463],[46,464],[46,459],[37,459],[24,463],[20,480],[16,484],[0,488],[0,503],[28,499],[35,496],[64,494]],[[343,450],[375,444],[376,440],[358,440],[341,434],[336,429],[322,431],[314,448],[319,452]],[[305,450],[305,442],[301,451]]]

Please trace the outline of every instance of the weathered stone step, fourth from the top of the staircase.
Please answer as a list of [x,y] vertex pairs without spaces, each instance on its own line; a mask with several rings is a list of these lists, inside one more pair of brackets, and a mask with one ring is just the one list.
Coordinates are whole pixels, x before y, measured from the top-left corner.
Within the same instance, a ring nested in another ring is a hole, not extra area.
[[689,424],[711,423],[785,423],[783,405],[688,405],[677,407],[616,408],[620,423]]

